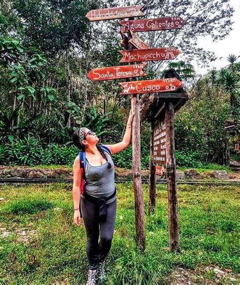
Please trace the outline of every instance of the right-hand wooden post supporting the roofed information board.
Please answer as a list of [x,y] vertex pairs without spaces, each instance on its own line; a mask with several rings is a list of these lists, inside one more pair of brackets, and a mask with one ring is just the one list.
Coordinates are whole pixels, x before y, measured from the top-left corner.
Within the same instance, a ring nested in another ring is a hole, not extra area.
[[178,199],[176,184],[176,161],[174,143],[174,105],[166,100],[166,155],[167,155],[167,186],[169,215],[169,247],[170,251],[179,251]]

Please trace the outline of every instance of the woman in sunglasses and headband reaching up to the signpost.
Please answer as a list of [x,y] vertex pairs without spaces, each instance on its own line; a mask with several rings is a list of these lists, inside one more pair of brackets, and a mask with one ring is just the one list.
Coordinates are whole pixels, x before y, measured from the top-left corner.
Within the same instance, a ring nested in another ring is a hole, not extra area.
[[[105,145],[111,155],[129,146],[133,116],[134,114],[130,112],[123,140],[114,145]],[[87,285],[95,285],[97,280],[105,278],[105,258],[110,251],[115,225],[114,164],[108,150],[103,150],[104,147],[97,144],[99,138],[88,128],[75,130],[72,141],[74,146],[85,151],[86,154],[84,194],[80,191],[82,172],[79,155],[73,163],[73,221],[79,227],[83,217],[87,233],[86,253],[89,264]],[[98,242],[99,234],[100,242]]]

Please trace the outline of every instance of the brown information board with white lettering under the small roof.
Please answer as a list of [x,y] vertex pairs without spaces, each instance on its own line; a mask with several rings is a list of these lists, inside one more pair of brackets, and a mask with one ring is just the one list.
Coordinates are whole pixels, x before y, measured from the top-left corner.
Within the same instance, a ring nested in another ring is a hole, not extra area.
[[153,161],[155,164],[166,165],[166,124],[165,119],[154,127]]

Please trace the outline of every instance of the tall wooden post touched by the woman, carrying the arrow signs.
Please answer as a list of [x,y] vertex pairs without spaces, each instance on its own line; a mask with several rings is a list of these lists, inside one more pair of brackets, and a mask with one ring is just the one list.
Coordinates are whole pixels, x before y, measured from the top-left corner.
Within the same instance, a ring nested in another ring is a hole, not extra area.
[[[131,34],[128,34],[128,48],[133,49],[129,43]],[[136,78],[130,80],[136,81]],[[140,140],[140,106],[139,94],[131,95],[131,109],[135,113],[132,125],[132,149],[133,149],[133,188],[135,201],[135,228],[136,246],[145,251],[145,225],[144,225],[144,203],[141,178],[141,140]]]

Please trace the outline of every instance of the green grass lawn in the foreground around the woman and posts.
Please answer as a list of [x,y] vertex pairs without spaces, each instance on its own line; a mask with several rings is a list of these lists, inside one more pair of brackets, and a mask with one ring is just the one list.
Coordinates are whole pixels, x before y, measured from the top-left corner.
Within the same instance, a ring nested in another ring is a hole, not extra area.
[[[132,184],[116,188],[115,233],[105,284],[162,284],[177,267],[219,266],[239,272],[239,187],[179,185],[181,252],[170,253],[167,191],[157,185],[156,212],[145,215],[144,254],[135,249]],[[143,189],[147,209],[148,186]],[[5,185],[0,197],[0,227],[11,232],[0,238],[0,283],[84,284],[86,234],[83,221],[80,228],[72,222],[71,185]],[[18,229],[37,229],[38,235],[23,243]]]

